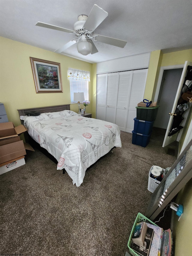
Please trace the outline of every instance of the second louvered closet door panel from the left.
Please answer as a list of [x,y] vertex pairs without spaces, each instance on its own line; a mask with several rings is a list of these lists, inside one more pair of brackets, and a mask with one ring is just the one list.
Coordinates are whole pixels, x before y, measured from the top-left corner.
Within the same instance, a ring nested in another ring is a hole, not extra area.
[[107,108],[106,121],[115,123],[115,108],[119,73],[110,73],[107,76]]

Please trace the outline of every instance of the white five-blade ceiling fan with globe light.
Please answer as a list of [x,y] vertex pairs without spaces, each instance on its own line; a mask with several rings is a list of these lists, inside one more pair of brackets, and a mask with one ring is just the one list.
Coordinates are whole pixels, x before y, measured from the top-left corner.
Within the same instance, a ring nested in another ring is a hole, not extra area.
[[111,38],[103,35],[94,34],[94,30],[103,22],[103,20],[108,16],[108,13],[100,8],[98,5],[94,5],[91,9],[90,14],[87,15],[79,15],[78,21],[74,24],[73,29],[65,29],[58,26],[50,25],[43,22],[37,22],[35,25],[48,28],[55,29],[67,33],[74,34],[77,38],[72,39],[63,47],[55,50],[55,53],[61,53],[73,44],[77,43],[77,50],[82,55],[94,54],[97,53],[98,50],[95,46],[94,42],[102,42],[105,44],[111,44],[117,47],[124,48],[127,41]]

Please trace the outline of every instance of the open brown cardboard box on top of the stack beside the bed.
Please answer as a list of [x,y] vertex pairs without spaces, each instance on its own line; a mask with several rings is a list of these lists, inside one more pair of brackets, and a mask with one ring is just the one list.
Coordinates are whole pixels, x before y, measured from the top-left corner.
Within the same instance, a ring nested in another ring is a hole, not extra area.
[[0,123],[0,146],[20,140],[19,135],[25,131],[27,129],[23,125],[14,127],[12,122]]

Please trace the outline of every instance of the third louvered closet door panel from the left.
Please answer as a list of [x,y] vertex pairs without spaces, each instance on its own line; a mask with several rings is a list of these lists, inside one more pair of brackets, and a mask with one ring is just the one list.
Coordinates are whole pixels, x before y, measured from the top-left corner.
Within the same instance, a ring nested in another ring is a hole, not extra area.
[[125,131],[128,114],[128,100],[131,90],[132,71],[119,72],[119,84],[116,107],[116,124],[121,131]]

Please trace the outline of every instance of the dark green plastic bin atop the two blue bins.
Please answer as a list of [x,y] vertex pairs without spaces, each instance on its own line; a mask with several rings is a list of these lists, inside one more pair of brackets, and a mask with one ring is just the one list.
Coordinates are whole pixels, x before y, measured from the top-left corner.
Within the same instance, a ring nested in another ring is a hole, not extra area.
[[137,108],[137,119],[144,121],[154,121],[157,116],[158,108],[156,107],[136,107]]

